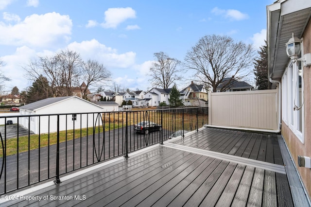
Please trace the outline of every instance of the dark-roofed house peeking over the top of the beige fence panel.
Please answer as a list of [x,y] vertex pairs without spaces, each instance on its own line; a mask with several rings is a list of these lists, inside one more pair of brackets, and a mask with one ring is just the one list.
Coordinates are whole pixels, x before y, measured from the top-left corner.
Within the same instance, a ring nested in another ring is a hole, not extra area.
[[254,90],[254,87],[246,83],[245,81],[237,81],[234,77],[224,78],[223,81],[217,86],[216,92],[228,92],[228,91],[245,91]]

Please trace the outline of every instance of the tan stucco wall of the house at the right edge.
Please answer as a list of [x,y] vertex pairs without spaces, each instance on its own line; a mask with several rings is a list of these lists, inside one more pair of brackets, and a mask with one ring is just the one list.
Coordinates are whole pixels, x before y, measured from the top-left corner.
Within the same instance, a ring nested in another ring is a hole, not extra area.
[[[309,21],[306,30],[303,35],[303,52],[311,53],[311,22]],[[303,69],[303,81],[304,81],[304,142],[302,143],[297,138],[290,127],[285,121],[282,121],[282,136],[286,141],[286,144],[292,154],[298,172],[302,181],[311,195],[311,169],[298,167],[298,155],[311,157],[311,69]]]

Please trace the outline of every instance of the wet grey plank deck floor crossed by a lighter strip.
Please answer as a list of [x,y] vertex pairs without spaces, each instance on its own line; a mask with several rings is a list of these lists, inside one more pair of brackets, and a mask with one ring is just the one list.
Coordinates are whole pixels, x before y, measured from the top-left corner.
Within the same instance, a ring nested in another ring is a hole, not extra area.
[[294,206],[275,134],[204,127],[129,156],[0,205]]

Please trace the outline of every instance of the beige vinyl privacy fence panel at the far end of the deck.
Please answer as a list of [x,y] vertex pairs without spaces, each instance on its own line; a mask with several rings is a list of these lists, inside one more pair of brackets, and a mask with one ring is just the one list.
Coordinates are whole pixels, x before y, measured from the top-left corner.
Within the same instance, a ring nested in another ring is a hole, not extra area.
[[209,92],[208,124],[277,130],[278,89]]

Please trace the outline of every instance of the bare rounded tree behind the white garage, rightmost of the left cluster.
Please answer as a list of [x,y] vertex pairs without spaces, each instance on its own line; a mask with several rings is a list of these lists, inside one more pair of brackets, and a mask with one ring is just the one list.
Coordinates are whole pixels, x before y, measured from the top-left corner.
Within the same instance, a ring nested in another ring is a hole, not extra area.
[[[104,67],[103,64],[96,60],[87,60],[83,64],[83,68],[80,70],[79,75],[76,77],[78,86],[81,89],[82,98],[86,99],[87,91],[90,86],[103,86],[105,81],[109,81],[111,78],[111,72]],[[86,86],[81,87],[81,81]]]

